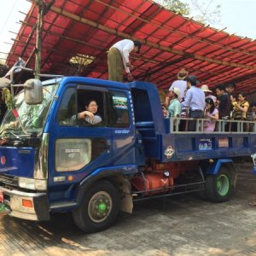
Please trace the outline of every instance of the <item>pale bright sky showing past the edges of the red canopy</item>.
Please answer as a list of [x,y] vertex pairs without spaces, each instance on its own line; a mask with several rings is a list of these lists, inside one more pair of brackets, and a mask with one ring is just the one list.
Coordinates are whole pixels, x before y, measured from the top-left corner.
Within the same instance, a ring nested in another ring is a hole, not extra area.
[[[16,38],[20,25],[20,20],[24,20],[25,15],[19,11],[27,13],[31,3],[26,0],[0,0],[0,61],[3,61],[3,53],[8,53],[12,38]],[[136,0],[131,0],[136,1]],[[189,2],[190,0],[182,0]],[[218,29],[227,27],[225,32],[236,33],[237,36],[256,39],[256,0],[199,0],[208,3],[209,8],[216,4],[221,4],[221,26]],[[15,33],[14,33],[15,32]],[[8,44],[5,44],[8,43]]]

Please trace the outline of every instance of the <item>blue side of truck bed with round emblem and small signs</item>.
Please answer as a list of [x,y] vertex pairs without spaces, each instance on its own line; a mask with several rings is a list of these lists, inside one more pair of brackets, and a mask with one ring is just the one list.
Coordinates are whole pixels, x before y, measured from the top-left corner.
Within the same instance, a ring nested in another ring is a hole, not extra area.
[[[203,132],[201,125],[198,125],[197,131],[172,131],[170,119],[164,119],[164,122],[166,132],[155,134],[153,123],[137,124],[146,156],[160,162],[233,158],[256,152],[254,131],[226,132],[219,128],[219,131]],[[219,121],[219,127],[223,122]]]

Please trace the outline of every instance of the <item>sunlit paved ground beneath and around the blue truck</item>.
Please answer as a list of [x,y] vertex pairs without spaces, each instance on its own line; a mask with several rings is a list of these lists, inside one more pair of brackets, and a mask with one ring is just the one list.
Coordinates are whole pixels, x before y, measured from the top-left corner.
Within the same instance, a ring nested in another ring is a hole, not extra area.
[[0,255],[256,255],[256,176],[239,168],[231,201],[213,204],[192,195],[137,203],[101,233],[86,235],[70,214],[34,223],[1,214]]

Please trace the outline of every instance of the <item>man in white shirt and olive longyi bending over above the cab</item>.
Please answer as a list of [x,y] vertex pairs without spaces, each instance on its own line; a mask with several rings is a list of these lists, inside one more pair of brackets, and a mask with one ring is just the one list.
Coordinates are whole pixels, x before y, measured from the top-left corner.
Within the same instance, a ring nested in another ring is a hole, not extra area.
[[108,50],[108,80],[123,82],[123,65],[127,73],[127,79],[133,80],[130,72],[132,65],[129,61],[131,52],[139,53],[142,44],[139,41],[123,39]]

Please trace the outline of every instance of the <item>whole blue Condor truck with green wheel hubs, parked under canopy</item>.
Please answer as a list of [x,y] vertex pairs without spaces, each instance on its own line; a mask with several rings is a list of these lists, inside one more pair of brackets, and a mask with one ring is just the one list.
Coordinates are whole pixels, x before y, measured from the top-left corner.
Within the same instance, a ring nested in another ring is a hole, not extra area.
[[[104,230],[135,201],[196,192],[213,202],[236,186],[234,159],[255,155],[250,132],[177,131],[154,84],[30,79],[9,99],[0,130],[0,201],[10,216],[72,212],[84,232]],[[79,119],[93,99],[102,122]],[[203,120],[201,120],[203,121]],[[252,125],[252,124],[251,124]],[[255,157],[253,157],[255,160]]]

